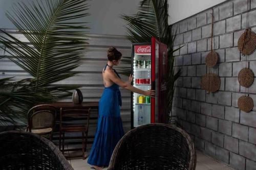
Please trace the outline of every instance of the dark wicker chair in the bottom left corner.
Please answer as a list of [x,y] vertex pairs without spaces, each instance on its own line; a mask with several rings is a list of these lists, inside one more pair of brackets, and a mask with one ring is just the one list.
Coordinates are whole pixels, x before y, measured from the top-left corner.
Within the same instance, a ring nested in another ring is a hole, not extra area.
[[0,169],[74,170],[48,139],[21,131],[0,133]]

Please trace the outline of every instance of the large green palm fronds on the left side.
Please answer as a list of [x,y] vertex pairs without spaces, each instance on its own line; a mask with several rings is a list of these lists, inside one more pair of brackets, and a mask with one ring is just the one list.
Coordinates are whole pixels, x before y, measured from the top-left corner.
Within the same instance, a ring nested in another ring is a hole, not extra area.
[[[81,19],[86,12],[87,0],[45,0],[17,3],[7,17],[29,40],[24,43],[0,30],[0,43],[5,45],[11,61],[26,70],[33,78],[16,83],[2,80],[9,93],[1,91],[0,97],[7,101],[0,104],[0,114],[13,122],[13,116],[24,115],[31,104],[50,102],[71,95],[69,90],[77,86],[53,86],[52,83],[77,74],[86,52],[86,25]],[[0,46],[4,50],[4,47]],[[13,86],[20,86],[13,88]],[[26,94],[24,92],[27,92]],[[22,93],[22,94],[20,94]],[[18,98],[16,98],[18,95]],[[33,102],[31,102],[33,101]],[[17,110],[18,102],[22,103]],[[8,113],[7,113],[8,111]],[[21,114],[22,113],[22,114]],[[16,114],[16,115],[15,115]],[[24,117],[24,116],[23,116]],[[7,120],[7,119],[6,119]]]

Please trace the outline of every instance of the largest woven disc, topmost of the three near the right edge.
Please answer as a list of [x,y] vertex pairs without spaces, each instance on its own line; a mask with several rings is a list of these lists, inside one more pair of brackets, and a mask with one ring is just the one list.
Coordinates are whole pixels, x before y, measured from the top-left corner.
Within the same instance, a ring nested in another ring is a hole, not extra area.
[[244,55],[250,55],[256,47],[256,34],[246,29],[238,40],[238,49]]

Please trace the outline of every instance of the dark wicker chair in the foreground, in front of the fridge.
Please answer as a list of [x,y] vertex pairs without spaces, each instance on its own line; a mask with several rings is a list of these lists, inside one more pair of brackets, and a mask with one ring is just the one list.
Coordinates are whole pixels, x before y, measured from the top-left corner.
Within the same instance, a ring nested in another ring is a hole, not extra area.
[[127,132],[112,154],[108,170],[196,168],[194,143],[180,128],[148,124]]

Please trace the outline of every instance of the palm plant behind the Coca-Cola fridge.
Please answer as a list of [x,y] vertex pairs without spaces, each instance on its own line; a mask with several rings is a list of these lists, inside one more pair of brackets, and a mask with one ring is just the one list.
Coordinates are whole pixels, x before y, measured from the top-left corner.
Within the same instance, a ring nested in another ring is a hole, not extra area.
[[168,72],[167,82],[167,122],[169,122],[170,112],[174,96],[175,81],[180,76],[181,71],[174,72],[173,50],[175,34],[172,33],[172,26],[168,26],[168,5],[167,0],[143,0],[140,2],[139,12],[133,16],[122,15],[126,21],[127,36],[132,42],[151,42],[151,37],[156,37],[160,42],[168,47]]

